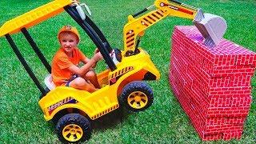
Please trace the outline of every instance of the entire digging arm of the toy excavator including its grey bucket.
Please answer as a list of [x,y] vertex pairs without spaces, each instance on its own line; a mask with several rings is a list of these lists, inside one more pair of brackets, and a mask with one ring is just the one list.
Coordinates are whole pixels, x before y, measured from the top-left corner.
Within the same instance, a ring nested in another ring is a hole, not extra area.
[[[136,18],[139,14],[145,13],[152,7],[155,7],[156,10],[152,10]],[[219,16],[203,14],[201,9],[186,5],[182,2],[174,0],[156,0],[153,6],[137,14],[128,16],[128,22],[123,28],[124,51],[126,56],[136,54],[138,43],[146,29],[168,16],[194,20],[194,25],[198,27],[198,30],[205,38],[206,46],[212,47],[218,45],[219,40],[226,31],[226,21]],[[213,30],[213,27],[215,30]]]

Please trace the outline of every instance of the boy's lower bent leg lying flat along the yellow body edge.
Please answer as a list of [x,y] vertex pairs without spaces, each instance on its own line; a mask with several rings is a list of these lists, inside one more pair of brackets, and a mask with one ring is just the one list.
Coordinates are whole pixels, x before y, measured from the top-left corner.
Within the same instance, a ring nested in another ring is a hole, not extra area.
[[86,82],[86,80],[81,77],[75,78],[69,83],[69,86],[74,87],[75,89],[86,90],[90,93],[98,90],[92,84],[90,84],[90,82]]

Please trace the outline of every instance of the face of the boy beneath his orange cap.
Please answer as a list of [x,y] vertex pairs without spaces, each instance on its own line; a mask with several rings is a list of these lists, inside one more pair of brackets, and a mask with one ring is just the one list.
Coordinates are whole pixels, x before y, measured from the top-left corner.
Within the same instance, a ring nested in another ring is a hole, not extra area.
[[78,46],[77,36],[70,32],[62,32],[59,35],[59,42],[62,46],[62,49],[65,50],[66,53],[71,53],[72,50]]

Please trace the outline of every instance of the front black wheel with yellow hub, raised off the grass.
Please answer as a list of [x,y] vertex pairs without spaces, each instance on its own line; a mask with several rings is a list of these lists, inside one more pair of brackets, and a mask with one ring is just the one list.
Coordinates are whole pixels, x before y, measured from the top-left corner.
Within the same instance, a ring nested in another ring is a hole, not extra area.
[[128,83],[119,97],[121,106],[134,112],[146,110],[153,103],[153,90],[146,82],[134,81]]

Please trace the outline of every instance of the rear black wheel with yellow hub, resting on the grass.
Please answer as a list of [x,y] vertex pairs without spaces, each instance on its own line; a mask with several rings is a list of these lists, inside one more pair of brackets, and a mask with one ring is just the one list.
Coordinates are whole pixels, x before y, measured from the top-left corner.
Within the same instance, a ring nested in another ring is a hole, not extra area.
[[56,126],[58,139],[64,143],[84,142],[92,132],[89,120],[80,114],[66,114]]

